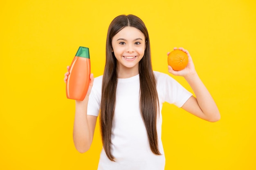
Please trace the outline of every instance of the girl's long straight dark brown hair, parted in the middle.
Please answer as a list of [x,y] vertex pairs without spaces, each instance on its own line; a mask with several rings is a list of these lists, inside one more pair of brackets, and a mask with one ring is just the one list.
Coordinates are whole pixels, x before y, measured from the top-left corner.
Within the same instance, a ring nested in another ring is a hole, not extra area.
[[132,26],[139,29],[145,36],[146,49],[144,57],[139,61],[139,81],[140,81],[140,111],[144,121],[148,141],[151,151],[156,155],[161,155],[157,140],[157,108],[159,100],[156,89],[156,79],[151,64],[150,42],[148,30],[144,22],[135,15],[119,15],[108,28],[106,42],[106,65],[103,74],[100,128],[103,148],[108,159],[114,161],[111,153],[111,130],[112,120],[115,112],[116,88],[117,88],[117,60],[112,52],[112,38],[125,26]]

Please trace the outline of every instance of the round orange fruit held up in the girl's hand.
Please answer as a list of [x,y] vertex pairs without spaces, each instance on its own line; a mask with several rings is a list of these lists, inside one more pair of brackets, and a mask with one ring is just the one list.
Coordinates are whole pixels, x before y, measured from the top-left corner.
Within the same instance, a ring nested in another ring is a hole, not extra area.
[[183,70],[188,65],[189,57],[182,50],[173,50],[168,55],[168,65],[175,71]]

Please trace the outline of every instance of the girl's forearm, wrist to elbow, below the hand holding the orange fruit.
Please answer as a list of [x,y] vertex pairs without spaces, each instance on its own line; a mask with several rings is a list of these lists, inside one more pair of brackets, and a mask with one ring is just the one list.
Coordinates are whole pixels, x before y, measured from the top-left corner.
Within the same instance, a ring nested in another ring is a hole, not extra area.
[[211,94],[204,86],[197,73],[184,77],[195,93],[196,100],[205,119],[208,121],[218,121],[220,113]]

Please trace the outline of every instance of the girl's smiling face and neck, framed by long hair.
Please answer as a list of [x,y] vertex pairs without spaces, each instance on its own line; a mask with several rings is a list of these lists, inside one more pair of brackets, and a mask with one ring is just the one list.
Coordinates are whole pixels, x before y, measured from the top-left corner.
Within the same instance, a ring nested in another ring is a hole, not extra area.
[[126,26],[112,38],[117,59],[117,75],[127,78],[139,74],[139,61],[146,48],[145,36],[139,29]]

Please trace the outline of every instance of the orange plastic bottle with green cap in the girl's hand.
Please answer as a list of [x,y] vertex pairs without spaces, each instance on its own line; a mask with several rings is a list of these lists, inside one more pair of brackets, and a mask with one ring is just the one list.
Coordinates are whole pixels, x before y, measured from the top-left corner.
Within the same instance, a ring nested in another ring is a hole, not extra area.
[[68,99],[82,101],[88,91],[91,74],[89,48],[80,46],[69,68],[66,82]]

